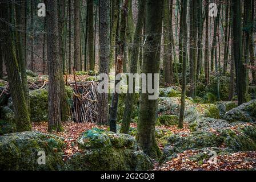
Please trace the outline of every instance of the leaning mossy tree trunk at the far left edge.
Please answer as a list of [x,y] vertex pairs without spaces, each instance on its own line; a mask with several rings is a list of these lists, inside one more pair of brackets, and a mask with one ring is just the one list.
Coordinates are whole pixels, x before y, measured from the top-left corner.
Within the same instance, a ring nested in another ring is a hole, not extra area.
[[19,77],[18,63],[14,55],[14,46],[11,40],[11,28],[9,27],[9,3],[7,1],[1,1],[0,6],[0,47],[5,60],[5,66],[10,85],[11,98],[13,100],[14,115],[17,130],[30,131],[31,123],[29,111],[27,109],[25,96],[22,89],[21,79]]

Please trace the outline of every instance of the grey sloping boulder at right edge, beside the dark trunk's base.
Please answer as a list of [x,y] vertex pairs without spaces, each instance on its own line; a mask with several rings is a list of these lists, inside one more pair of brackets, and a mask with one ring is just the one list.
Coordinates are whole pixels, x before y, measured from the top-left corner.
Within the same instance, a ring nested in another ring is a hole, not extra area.
[[246,102],[224,115],[224,119],[229,122],[256,122],[256,100]]

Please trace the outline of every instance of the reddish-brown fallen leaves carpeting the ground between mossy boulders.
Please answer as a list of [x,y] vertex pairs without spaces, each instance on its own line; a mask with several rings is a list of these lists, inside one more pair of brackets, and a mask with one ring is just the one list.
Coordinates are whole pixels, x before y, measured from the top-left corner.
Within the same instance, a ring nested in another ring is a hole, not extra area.
[[[107,130],[108,126],[98,126],[94,123],[74,123],[65,122],[63,123],[63,132],[54,133],[59,137],[62,137],[66,143],[64,150],[65,156],[64,160],[70,158],[75,152],[79,152],[77,143],[75,142],[79,135],[87,130],[94,127],[99,129]],[[137,127],[136,123],[131,123],[131,127]],[[159,129],[170,130],[174,134],[190,132],[187,125],[183,129],[178,129],[177,126],[157,126]],[[47,132],[47,122],[33,123],[33,130],[40,131],[42,133]],[[159,144],[159,148],[163,150],[163,146]],[[154,162],[154,171],[182,171],[182,170],[243,170],[243,169],[255,169],[256,168],[256,151],[251,152],[235,152],[231,155],[219,155],[217,156],[217,163],[210,164],[204,161],[203,164],[198,164],[197,162],[191,161],[189,158],[193,155],[197,155],[198,151],[186,150],[180,154],[178,157],[170,160],[169,162],[159,165],[158,162]]]

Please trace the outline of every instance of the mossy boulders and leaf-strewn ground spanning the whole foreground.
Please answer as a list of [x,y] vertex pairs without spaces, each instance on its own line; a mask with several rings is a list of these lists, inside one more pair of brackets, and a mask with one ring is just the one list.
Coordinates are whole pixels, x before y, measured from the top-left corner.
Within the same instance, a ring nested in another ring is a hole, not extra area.
[[[79,79],[94,76],[84,73]],[[37,81],[44,76],[29,76]],[[67,80],[72,80],[68,76]],[[226,77],[221,78],[222,100],[226,100]],[[7,82],[1,81],[0,89]],[[32,84],[33,85],[33,84]],[[2,86],[2,87],[1,87]],[[119,134],[125,95],[118,104],[118,133],[94,123],[63,123],[61,133],[47,133],[47,88],[30,91],[33,131],[15,133],[10,96],[0,97],[0,169],[31,170],[255,170],[256,169],[256,100],[241,106],[235,101],[217,102],[214,81],[198,87],[194,100],[186,97],[185,123],[178,129],[181,89],[160,89],[155,129],[162,157],[152,160],[135,140],[137,135],[139,95],[135,95],[129,135]],[[66,87],[69,99],[72,89]],[[256,89],[250,87],[253,98]],[[47,165],[38,166],[37,152],[46,151]],[[5,156],[8,156],[6,158]]]

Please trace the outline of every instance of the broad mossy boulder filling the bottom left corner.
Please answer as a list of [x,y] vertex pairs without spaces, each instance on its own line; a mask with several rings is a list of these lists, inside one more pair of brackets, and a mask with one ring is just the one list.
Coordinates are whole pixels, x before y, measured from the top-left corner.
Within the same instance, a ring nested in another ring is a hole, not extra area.
[[[64,142],[55,135],[34,131],[0,136],[0,170],[62,170]],[[45,165],[38,164],[38,152],[46,155]]]

